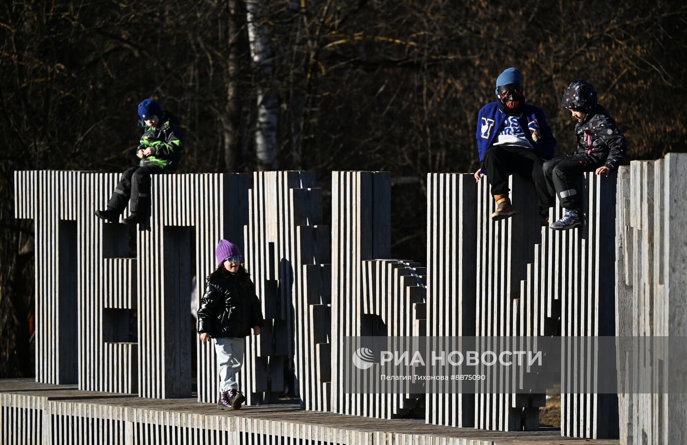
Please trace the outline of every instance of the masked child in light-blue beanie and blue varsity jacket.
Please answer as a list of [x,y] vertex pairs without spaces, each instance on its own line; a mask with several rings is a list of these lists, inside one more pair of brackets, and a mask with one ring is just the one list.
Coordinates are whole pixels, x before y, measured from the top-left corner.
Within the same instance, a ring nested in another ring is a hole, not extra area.
[[491,194],[498,208],[491,215],[497,221],[515,215],[508,195],[508,176],[517,173],[534,182],[539,200],[542,226],[548,226],[548,209],[552,197],[548,193],[543,160],[554,155],[556,139],[546,123],[544,112],[526,104],[522,75],[517,68],[508,68],[496,80],[497,101],[482,107],[477,115],[477,149],[482,166],[475,171],[475,180],[486,174]]

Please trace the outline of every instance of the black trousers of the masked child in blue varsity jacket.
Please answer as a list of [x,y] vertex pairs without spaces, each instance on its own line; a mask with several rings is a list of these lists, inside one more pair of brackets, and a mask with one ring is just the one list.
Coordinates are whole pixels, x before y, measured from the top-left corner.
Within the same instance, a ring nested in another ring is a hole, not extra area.
[[549,214],[549,208],[556,201],[553,195],[548,193],[544,173],[543,160],[527,147],[517,145],[496,145],[487,149],[484,154],[484,167],[486,167],[486,179],[491,184],[491,194],[504,195],[508,189],[508,175],[517,173],[523,179],[534,183],[539,200],[539,213],[543,216]]

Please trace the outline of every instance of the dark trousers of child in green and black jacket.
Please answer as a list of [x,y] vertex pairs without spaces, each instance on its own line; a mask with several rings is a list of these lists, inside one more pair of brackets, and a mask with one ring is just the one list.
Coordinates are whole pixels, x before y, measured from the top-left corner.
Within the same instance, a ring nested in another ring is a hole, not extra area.
[[122,179],[115,187],[107,207],[122,213],[131,197],[129,211],[142,213],[150,210],[150,175],[164,173],[157,165],[135,165],[122,173]]

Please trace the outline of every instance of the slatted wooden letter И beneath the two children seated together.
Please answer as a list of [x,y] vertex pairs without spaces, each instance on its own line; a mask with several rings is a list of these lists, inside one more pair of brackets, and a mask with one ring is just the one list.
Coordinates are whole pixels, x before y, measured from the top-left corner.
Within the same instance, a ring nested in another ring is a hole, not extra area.
[[[493,222],[495,202],[486,181],[477,200],[478,336],[595,337],[613,335],[615,303],[611,273],[615,249],[616,178],[587,173],[583,228],[562,232],[542,228],[532,185],[511,176],[518,213]],[[561,217],[556,206],[550,213]],[[432,249],[434,247],[432,246]],[[572,354],[575,350],[564,351]],[[598,358],[597,358],[598,359]],[[561,378],[596,376],[591,370],[566,368]],[[494,387],[498,382],[488,382]],[[477,394],[475,426],[518,431],[539,428],[545,394]],[[617,400],[605,394],[561,395],[561,435],[614,437],[618,434]]]

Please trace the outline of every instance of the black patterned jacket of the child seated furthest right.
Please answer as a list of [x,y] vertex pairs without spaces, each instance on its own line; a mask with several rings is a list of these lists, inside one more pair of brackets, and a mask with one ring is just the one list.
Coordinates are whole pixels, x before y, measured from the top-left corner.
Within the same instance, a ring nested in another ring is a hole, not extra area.
[[600,105],[575,124],[577,148],[575,154],[588,154],[609,170],[618,168],[627,149],[625,136],[618,130],[609,112]]

